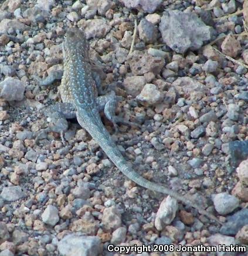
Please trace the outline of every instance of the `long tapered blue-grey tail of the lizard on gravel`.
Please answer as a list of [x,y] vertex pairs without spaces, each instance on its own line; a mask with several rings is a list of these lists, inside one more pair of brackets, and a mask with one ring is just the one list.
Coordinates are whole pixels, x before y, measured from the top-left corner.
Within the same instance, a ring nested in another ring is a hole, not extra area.
[[100,145],[100,147],[106,153],[108,158],[111,159],[111,161],[118,167],[118,169],[120,169],[120,171],[126,177],[128,177],[141,187],[150,189],[152,191],[161,192],[162,194],[170,195],[171,197],[174,197],[176,200],[181,201],[183,204],[195,208],[201,214],[206,215],[206,217],[215,220],[219,224],[223,224],[214,215],[200,208],[199,205],[184,197],[184,195],[181,195],[168,187],[164,187],[162,185],[158,185],[154,182],[148,181],[147,179],[143,178],[140,174],[135,172],[133,168],[129,167],[127,161],[125,161],[123,155],[121,155],[121,152],[117,148],[117,145],[115,145],[110,134],[101,122],[100,117],[98,118],[95,114],[94,118],[93,116],[89,117],[89,112],[87,113],[87,115],[80,115],[79,113],[77,113],[77,120],[79,121],[79,124],[82,127],[87,129],[91,137],[94,138],[94,140]]

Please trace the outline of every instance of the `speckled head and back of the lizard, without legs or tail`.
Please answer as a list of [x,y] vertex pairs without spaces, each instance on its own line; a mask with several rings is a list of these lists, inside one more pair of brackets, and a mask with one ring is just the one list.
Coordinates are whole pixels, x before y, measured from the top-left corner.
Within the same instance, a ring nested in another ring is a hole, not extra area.
[[63,41],[63,59],[64,74],[60,85],[62,101],[83,109],[93,109],[97,89],[91,74],[89,44],[80,29],[67,29]]

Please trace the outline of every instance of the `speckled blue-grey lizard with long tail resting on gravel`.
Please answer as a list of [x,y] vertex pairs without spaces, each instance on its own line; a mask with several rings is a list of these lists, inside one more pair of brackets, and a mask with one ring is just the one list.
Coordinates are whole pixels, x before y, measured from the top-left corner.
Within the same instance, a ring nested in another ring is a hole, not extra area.
[[113,92],[97,97],[97,85],[93,79],[89,59],[89,44],[82,29],[67,29],[63,39],[63,62],[64,71],[59,86],[62,103],[51,105],[47,112],[50,112],[50,114],[56,112],[56,118],[58,119],[76,117],[80,126],[89,132],[107,157],[131,181],[151,191],[170,195],[183,204],[195,208],[206,217],[222,224],[218,218],[193,200],[169,187],[145,179],[130,167],[101,121],[99,109],[104,108],[106,117],[114,125],[116,124],[118,119],[114,115],[113,107],[115,107],[118,97]]

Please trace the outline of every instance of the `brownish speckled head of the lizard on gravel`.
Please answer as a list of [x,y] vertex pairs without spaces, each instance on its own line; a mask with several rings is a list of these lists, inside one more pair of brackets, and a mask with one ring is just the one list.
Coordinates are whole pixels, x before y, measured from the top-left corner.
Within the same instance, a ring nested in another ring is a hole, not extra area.
[[85,51],[87,41],[84,31],[79,28],[69,28],[64,35],[63,52],[73,52],[75,49]]

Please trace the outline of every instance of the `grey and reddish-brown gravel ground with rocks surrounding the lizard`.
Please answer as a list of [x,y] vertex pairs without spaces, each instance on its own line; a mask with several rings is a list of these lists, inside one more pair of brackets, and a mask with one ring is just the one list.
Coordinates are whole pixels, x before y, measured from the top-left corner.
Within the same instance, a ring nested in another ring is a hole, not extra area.
[[[247,255],[238,250],[248,244],[248,1],[0,7],[0,256],[125,255],[121,245],[131,255],[206,255],[201,246],[218,245],[227,252],[208,255]],[[103,88],[123,97],[117,114],[142,125],[114,134],[102,115],[125,158],[222,227],[137,187],[76,120],[64,144],[56,132],[35,143],[50,125],[43,108],[60,101],[60,81],[39,86],[33,77],[62,74],[63,35],[72,26],[85,30]],[[176,251],[188,245],[198,249]]]

